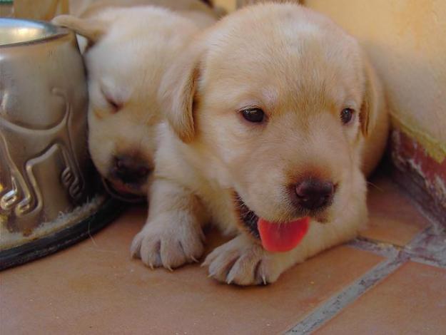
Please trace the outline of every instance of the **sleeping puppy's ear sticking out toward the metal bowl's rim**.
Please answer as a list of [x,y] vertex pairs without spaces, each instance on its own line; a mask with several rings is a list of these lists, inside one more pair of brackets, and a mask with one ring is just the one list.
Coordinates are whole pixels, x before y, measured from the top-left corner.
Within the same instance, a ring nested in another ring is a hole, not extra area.
[[108,28],[105,21],[98,19],[79,19],[72,15],[59,15],[52,21],[53,24],[64,26],[74,30],[75,33],[81,35],[88,40],[88,44],[96,43]]

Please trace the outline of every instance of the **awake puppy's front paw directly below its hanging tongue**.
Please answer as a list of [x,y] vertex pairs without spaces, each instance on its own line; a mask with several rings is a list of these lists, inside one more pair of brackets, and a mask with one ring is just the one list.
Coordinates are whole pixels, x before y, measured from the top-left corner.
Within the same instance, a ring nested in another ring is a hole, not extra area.
[[202,266],[209,267],[209,277],[238,285],[275,282],[280,276],[274,254],[265,251],[248,237],[239,235],[206,257]]

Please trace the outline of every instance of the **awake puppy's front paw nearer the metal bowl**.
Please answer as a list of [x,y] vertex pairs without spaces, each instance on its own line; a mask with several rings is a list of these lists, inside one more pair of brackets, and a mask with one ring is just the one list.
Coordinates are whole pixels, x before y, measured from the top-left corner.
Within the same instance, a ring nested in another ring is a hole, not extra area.
[[204,234],[192,222],[154,220],[133,239],[131,254],[149,267],[173,269],[198,262],[203,254]]

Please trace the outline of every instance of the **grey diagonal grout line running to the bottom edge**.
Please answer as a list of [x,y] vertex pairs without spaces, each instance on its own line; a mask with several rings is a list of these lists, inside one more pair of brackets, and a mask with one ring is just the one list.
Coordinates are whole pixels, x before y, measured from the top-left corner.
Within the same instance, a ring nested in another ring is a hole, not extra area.
[[[393,253],[392,253],[393,254]],[[313,311],[303,321],[300,321],[293,329],[287,331],[285,334],[310,334],[315,329],[319,328],[326,321],[330,320],[345,308],[348,304],[355,301],[363,293],[368,291],[377,282],[387,277],[394,272],[398,267],[407,261],[408,257],[402,252],[396,252],[392,258],[385,259],[377,264],[373,269],[360,277],[360,279],[350,284],[343,289],[340,294],[331,297],[322,306]]]

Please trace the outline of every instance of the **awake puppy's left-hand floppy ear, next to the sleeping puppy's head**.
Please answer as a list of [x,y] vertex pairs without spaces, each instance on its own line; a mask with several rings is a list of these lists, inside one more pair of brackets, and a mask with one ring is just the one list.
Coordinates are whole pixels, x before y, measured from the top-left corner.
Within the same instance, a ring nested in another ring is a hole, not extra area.
[[199,94],[198,82],[204,52],[203,45],[191,43],[173,61],[158,91],[168,123],[185,143],[191,142],[196,133],[193,113]]

